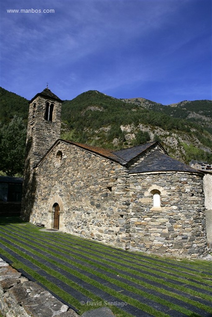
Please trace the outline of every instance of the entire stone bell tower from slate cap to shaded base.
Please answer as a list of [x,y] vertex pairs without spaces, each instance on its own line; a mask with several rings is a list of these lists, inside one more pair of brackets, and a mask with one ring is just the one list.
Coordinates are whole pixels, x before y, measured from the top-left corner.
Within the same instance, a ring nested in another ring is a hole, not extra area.
[[60,138],[62,102],[48,87],[36,94],[29,102],[21,203],[21,218],[27,221],[31,217],[37,188],[36,168],[33,167]]

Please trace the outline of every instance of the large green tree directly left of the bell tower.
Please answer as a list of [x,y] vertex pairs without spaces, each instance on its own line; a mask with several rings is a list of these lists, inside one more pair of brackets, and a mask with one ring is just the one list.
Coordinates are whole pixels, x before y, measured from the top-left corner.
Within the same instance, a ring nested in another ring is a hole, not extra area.
[[26,126],[22,118],[14,116],[0,128],[0,171],[7,176],[22,176],[26,145]]

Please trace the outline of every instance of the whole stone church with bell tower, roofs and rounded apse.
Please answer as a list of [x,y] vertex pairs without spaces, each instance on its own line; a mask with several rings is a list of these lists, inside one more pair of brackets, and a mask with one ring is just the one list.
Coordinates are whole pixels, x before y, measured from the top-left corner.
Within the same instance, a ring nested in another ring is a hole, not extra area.
[[30,101],[21,217],[124,249],[205,254],[204,174],[156,141],[113,151],[62,140],[61,106],[48,88]]

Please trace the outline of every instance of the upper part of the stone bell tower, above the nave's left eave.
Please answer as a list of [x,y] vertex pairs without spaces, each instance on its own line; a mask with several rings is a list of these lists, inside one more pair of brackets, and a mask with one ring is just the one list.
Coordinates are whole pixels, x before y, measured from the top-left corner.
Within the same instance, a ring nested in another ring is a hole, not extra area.
[[48,87],[29,102],[26,143],[29,145],[27,159],[30,159],[31,167],[60,138],[62,102]]

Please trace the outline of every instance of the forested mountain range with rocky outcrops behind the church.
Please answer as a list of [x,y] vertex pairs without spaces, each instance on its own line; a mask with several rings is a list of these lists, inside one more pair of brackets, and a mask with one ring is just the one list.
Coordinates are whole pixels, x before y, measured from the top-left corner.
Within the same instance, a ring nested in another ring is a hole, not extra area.
[[[0,89],[2,122],[27,118],[25,98]],[[170,156],[212,162],[212,102],[182,101],[164,106],[144,98],[116,99],[95,90],[62,105],[61,138],[120,149],[159,140]]]

